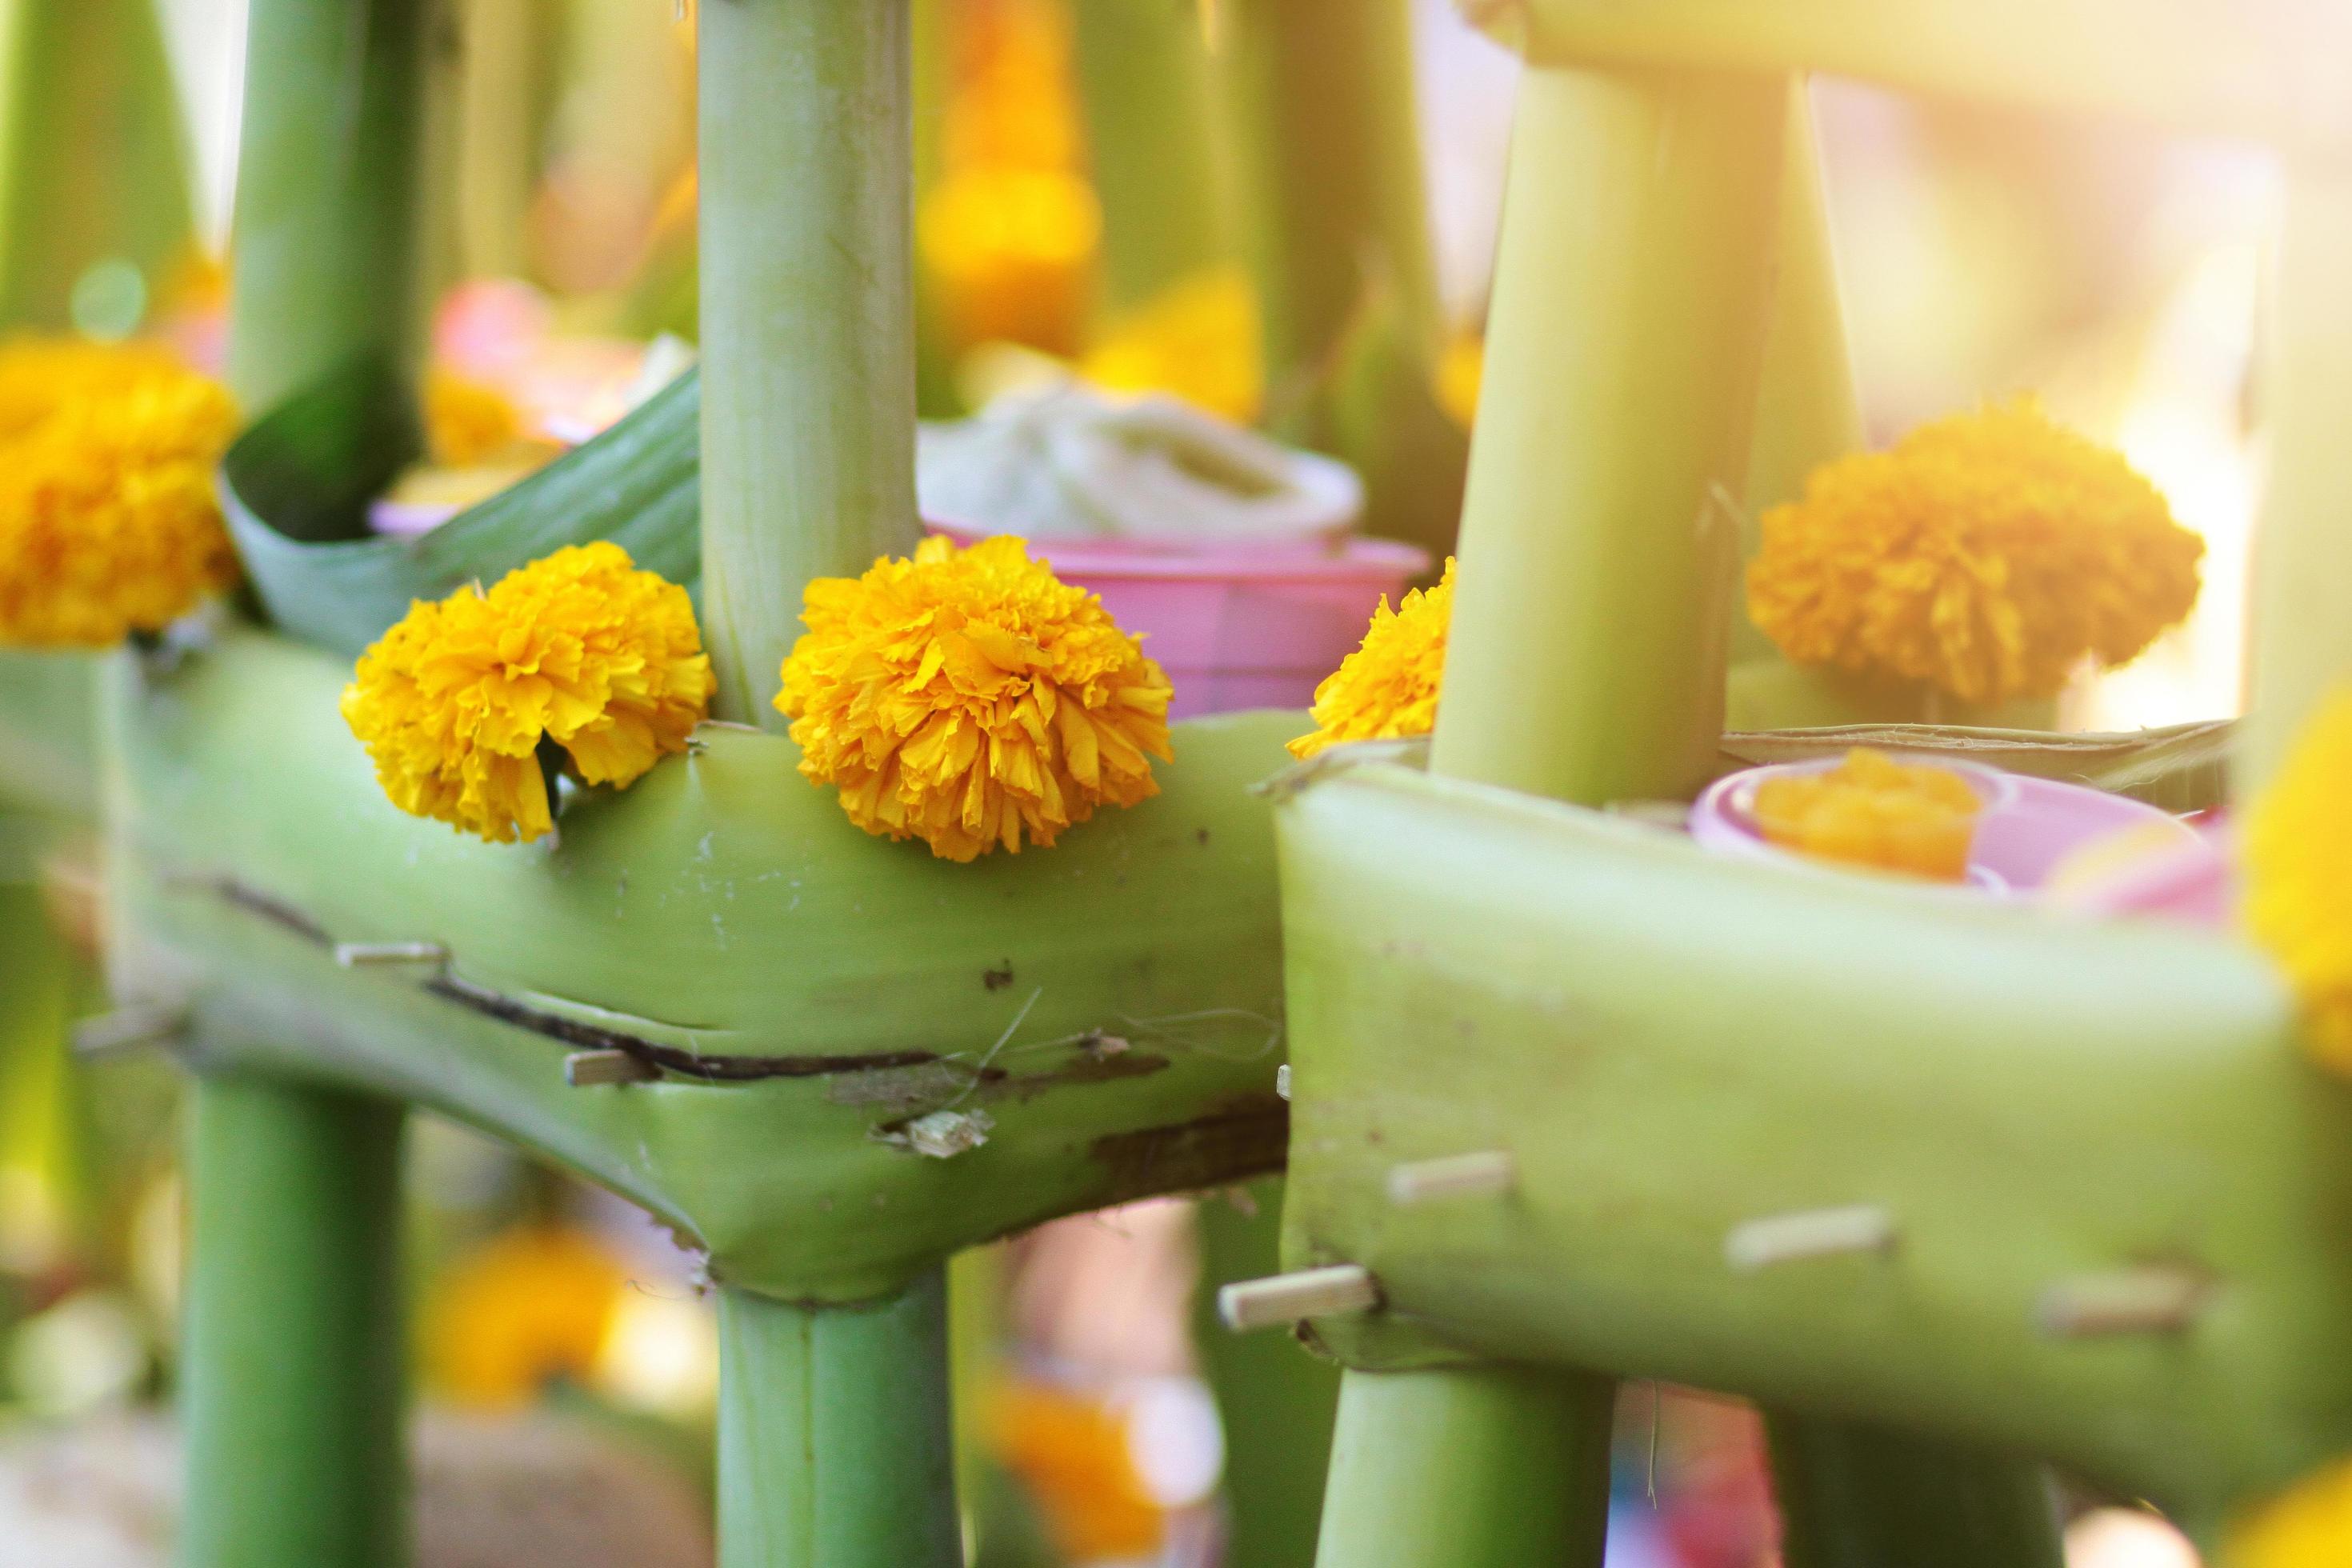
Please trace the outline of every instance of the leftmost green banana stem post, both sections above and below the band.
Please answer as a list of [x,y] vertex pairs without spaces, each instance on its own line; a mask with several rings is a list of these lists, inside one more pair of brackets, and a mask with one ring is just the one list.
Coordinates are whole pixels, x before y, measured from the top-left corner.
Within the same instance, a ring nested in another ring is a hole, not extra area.
[[[416,322],[421,0],[254,0],[230,378],[266,409],[405,362]],[[402,1110],[205,1077],[183,1342],[188,1568],[400,1563]]]

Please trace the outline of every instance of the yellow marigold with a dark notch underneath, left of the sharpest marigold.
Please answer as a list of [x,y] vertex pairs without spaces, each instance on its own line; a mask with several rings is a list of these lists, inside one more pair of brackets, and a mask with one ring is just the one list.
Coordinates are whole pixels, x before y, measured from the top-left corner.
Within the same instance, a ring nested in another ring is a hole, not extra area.
[[687,748],[710,686],[687,590],[600,541],[412,604],[343,686],[343,722],[395,806],[508,844],[555,825],[543,741],[583,783],[628,785]]

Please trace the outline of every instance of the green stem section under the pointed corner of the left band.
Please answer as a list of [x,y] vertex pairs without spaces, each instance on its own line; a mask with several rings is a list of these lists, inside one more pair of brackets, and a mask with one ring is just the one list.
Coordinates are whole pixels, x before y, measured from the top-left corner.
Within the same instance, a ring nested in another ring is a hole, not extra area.
[[720,1568],[955,1568],[948,1291],[720,1291]]

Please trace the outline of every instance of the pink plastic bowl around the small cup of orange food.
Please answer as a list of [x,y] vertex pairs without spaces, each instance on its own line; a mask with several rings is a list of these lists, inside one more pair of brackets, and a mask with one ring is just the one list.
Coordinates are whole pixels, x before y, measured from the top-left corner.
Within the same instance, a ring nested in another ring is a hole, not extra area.
[[[1842,757],[1783,762],[1717,778],[1691,806],[1691,837],[1726,853],[1804,860],[1806,856],[1764,842],[1752,813],[1757,785],[1776,773],[1823,773],[1839,762]],[[2105,790],[2002,773],[1973,762],[1917,755],[1903,762],[1950,769],[1985,802],[1976,818],[1976,842],[1969,844],[1969,882],[1990,893],[2030,893],[2070,851],[2126,827],[2178,835],[2185,853],[2201,846],[2197,830],[2180,818]]]

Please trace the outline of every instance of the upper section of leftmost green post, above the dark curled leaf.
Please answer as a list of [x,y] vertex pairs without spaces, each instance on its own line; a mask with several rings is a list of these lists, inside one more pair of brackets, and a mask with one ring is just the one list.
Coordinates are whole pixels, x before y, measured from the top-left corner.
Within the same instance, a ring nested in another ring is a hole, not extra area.
[[249,416],[421,348],[426,0],[254,0],[228,381]]

